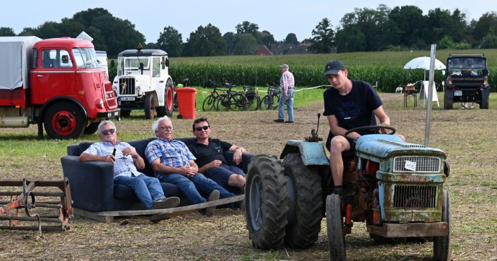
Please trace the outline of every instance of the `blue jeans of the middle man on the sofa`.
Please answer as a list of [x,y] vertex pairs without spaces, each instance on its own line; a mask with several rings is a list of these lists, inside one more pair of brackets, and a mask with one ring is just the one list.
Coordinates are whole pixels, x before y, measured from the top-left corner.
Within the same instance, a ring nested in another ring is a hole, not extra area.
[[228,192],[214,180],[207,178],[204,174],[197,173],[188,178],[182,174],[170,173],[161,177],[161,182],[172,183],[185,195],[192,204],[204,203],[207,200],[200,193],[209,196],[212,191],[219,190],[219,198],[235,196]]

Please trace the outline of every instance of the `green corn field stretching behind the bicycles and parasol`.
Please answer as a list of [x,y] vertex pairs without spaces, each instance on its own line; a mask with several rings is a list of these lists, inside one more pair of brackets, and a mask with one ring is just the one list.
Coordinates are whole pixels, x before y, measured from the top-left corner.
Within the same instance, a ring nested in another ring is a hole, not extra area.
[[[491,72],[489,84],[493,91],[497,90],[497,49],[486,50],[440,50],[436,58],[445,64],[450,53],[484,53],[487,57],[488,69]],[[323,76],[324,65],[334,59],[344,62],[349,72],[349,79],[362,80],[376,86],[381,92],[394,92],[399,86],[415,83],[423,79],[423,70],[405,70],[404,65],[411,59],[429,56],[429,51],[405,52],[362,52],[345,54],[307,54],[276,56],[218,56],[170,58],[169,74],[176,83],[189,79],[190,86],[213,87],[209,80],[216,83],[225,81],[236,85],[265,87],[279,84],[281,71],[279,65],[285,63],[295,76],[297,87],[314,87],[327,85]],[[112,71],[115,71],[112,70]],[[428,71],[426,80],[428,80]],[[111,77],[115,72],[110,72]],[[435,71],[436,86],[445,77],[442,71]]]

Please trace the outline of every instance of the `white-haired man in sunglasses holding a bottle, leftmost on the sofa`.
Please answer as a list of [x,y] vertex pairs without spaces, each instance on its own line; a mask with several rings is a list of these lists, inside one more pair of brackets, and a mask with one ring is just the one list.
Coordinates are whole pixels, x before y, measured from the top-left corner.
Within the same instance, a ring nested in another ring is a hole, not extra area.
[[117,140],[112,121],[102,121],[98,133],[102,142],[91,144],[81,154],[81,162],[103,161],[114,165],[114,184],[133,189],[147,209],[173,208],[179,204],[178,197],[166,198],[159,179],[138,172],[137,168],[145,168],[143,158],[131,145]]

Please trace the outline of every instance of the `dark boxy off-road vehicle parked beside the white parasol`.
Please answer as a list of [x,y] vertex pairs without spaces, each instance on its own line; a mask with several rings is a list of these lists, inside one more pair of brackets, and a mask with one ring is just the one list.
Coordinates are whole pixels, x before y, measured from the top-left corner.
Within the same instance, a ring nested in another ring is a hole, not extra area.
[[484,54],[450,54],[444,90],[444,108],[453,109],[454,102],[476,102],[489,108],[489,70]]

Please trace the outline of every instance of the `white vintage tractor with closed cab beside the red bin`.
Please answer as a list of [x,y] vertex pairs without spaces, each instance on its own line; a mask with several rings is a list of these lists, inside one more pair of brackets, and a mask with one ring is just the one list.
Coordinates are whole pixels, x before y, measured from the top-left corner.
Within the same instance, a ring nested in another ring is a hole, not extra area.
[[144,109],[145,118],[171,116],[173,82],[168,72],[167,53],[158,49],[125,50],[117,56],[117,76],[112,82],[121,116]]

